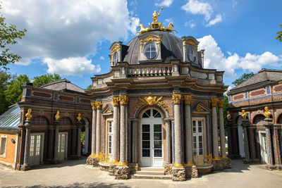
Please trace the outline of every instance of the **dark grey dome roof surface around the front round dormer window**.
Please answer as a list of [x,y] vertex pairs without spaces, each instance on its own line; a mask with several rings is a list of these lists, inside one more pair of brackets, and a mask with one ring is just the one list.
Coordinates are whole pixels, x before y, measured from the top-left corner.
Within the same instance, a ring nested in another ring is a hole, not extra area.
[[[162,35],[161,59],[163,63],[169,63],[172,59],[183,60],[182,40],[179,37],[160,30],[149,32],[151,34]],[[147,33],[148,32],[145,32],[145,34]],[[126,44],[123,53],[123,61],[128,62],[128,64],[139,64],[138,57],[140,56],[140,40],[138,37],[135,37]]]

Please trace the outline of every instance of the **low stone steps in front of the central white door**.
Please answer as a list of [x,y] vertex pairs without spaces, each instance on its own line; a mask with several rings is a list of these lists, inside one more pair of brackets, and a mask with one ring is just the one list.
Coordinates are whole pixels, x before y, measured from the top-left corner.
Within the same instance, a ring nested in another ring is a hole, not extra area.
[[140,168],[133,179],[171,180],[171,175],[164,175],[164,168]]

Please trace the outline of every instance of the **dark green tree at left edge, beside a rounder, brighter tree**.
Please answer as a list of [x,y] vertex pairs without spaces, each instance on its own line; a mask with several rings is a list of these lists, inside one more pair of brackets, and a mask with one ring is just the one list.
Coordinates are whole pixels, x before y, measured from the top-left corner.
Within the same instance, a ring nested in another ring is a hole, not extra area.
[[8,110],[5,91],[8,88],[8,81],[10,79],[11,75],[0,70],[0,115]]

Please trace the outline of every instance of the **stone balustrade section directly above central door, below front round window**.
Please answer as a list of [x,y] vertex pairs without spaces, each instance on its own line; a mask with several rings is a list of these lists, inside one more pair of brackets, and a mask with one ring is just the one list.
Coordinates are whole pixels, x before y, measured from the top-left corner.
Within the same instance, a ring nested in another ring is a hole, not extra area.
[[152,76],[169,76],[172,75],[171,66],[160,66],[152,68],[128,68],[128,77],[152,77]]

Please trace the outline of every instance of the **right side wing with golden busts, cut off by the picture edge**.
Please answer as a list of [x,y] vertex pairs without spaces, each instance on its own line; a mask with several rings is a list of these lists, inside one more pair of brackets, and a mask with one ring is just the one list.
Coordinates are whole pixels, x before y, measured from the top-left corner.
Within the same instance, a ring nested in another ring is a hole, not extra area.
[[228,153],[282,169],[282,70],[262,69],[228,93]]

